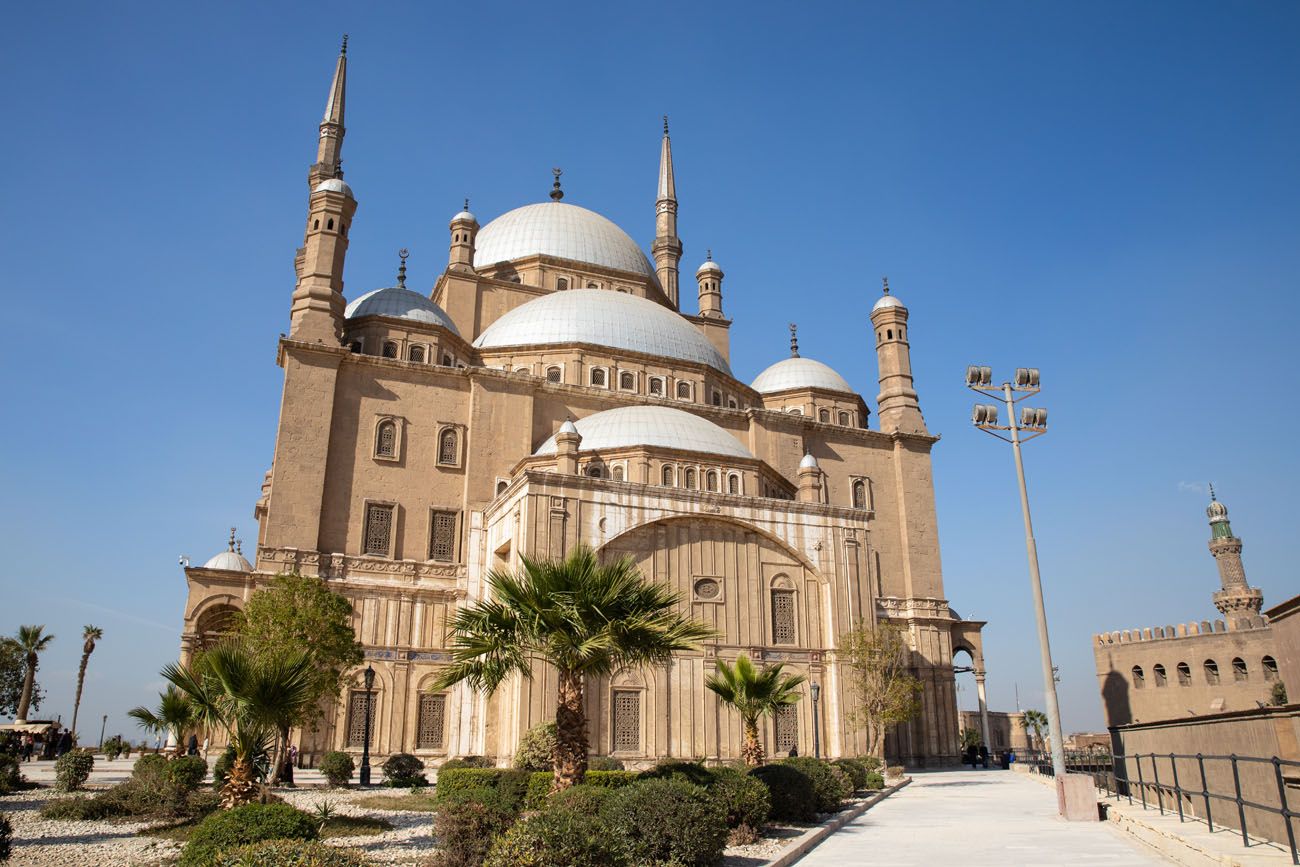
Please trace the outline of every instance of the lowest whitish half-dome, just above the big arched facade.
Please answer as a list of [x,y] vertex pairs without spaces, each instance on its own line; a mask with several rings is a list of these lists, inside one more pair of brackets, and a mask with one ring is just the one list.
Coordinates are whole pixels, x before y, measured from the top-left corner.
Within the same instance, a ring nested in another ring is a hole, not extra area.
[[[658,446],[727,458],[754,456],[736,437],[714,422],[672,407],[619,407],[578,419],[575,426],[582,434],[582,451]],[[533,454],[554,455],[555,437]]]

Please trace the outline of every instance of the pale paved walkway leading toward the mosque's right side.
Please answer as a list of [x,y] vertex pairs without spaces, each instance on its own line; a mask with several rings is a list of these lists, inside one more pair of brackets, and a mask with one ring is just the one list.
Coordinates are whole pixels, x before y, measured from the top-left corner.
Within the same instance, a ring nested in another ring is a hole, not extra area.
[[831,835],[798,867],[1036,867],[1170,862],[1106,823],[1065,822],[1056,792],[1011,771],[939,771]]

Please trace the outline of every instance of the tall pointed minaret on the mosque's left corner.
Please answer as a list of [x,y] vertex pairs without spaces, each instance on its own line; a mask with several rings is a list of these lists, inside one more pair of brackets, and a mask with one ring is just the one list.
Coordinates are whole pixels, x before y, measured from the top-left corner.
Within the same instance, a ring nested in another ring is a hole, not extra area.
[[338,342],[343,330],[343,259],[356,199],[343,182],[343,97],[347,90],[347,36],[334,68],[316,162],[307,173],[311,199],[306,240],[294,261],[298,285],[289,334],[296,341]]

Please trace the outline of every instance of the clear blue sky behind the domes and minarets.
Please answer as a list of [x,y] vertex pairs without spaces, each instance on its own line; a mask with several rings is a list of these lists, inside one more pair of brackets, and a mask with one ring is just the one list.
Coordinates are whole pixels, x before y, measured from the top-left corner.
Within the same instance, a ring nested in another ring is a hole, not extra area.
[[[446,263],[446,221],[567,201],[649,247],[672,117],[685,264],[727,270],[733,367],[786,352],[874,402],[881,274],[911,309],[944,575],[994,708],[1041,707],[1011,455],[972,361],[1043,369],[1027,448],[1067,731],[1095,630],[1213,612],[1204,484],[1266,604],[1300,591],[1294,3],[22,4],[6,16],[0,630],[57,636],[109,732],[178,650],[185,578],[255,537],[304,177],[339,34],[347,294]],[[686,294],[689,296],[689,291]],[[693,303],[693,302],[690,302]],[[974,703],[974,684],[961,693]]]

